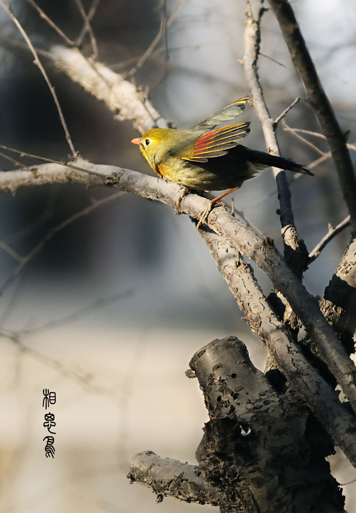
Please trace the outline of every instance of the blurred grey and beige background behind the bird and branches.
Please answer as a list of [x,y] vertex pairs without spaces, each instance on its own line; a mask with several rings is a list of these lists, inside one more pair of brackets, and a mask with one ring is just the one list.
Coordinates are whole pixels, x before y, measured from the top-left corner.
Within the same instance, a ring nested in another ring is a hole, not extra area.
[[[83,27],[80,6],[85,12],[94,8],[91,27],[98,60],[147,89],[153,105],[175,126],[188,127],[248,93],[238,62],[244,54],[244,2],[82,2],[43,0],[37,5],[72,40]],[[11,7],[38,50],[66,45],[30,2],[15,1]],[[351,130],[349,142],[354,144],[356,5],[353,0],[299,0],[293,8],[340,124]],[[0,24],[0,144],[67,160],[69,148],[53,98],[1,7]],[[159,44],[137,68],[162,26]],[[276,117],[305,93],[272,12],[263,18],[261,51],[260,79]],[[88,35],[82,52],[92,53]],[[131,124],[115,121],[103,103],[54,71],[41,55],[81,155],[150,173],[130,144],[138,135]],[[265,149],[250,106],[242,121],[252,123],[245,144]],[[292,128],[320,131],[304,100],[285,121]],[[327,151],[322,139],[306,135],[317,146],[312,148],[284,128],[281,124],[278,130],[282,155],[308,166]],[[36,162],[5,153],[24,165]],[[0,163],[2,170],[16,168],[3,153]],[[336,225],[347,215],[331,161],[313,172],[314,179],[301,176],[291,184],[296,226],[309,251],[328,223]],[[28,255],[46,238],[42,250],[1,289],[2,512],[49,507],[53,513],[212,510],[171,499],[156,506],[148,489],[129,486],[131,458],[150,449],[195,463],[207,414],[196,380],[188,380],[184,372],[203,345],[233,334],[247,344],[254,365],[264,368],[261,342],[242,320],[187,216],[125,194],[57,230],[110,194],[108,188],[66,184],[0,196],[0,287],[16,272],[18,255]],[[281,248],[271,170],[233,196],[235,208]],[[348,238],[345,230],[305,273],[310,292],[323,294]],[[268,293],[268,279],[258,269],[256,275]],[[44,388],[57,394],[49,408],[56,422],[53,460],[44,450]],[[356,477],[343,455],[332,464],[341,483]],[[352,511],[355,484],[345,485],[344,493]]]

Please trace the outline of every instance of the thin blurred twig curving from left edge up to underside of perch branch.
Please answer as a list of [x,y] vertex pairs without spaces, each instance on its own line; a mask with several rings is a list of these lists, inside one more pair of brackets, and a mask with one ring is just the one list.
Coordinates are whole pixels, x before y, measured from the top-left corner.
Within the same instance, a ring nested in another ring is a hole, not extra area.
[[26,255],[26,257],[23,257],[19,263],[19,265],[12,271],[9,278],[6,280],[6,282],[0,287],[0,295],[4,293],[4,291],[11,285],[11,283],[15,280],[15,278],[18,276],[18,274],[24,269],[24,267],[35,257],[36,254],[39,253],[43,249],[43,247],[50,241],[54,235],[60,231],[62,231],[64,228],[66,228],[68,225],[72,224],[74,221],[77,221],[78,219],[82,218],[84,215],[88,215],[90,212],[95,210],[98,207],[101,207],[102,205],[105,205],[106,203],[109,203],[113,200],[116,200],[117,198],[120,198],[124,194],[123,191],[116,192],[114,194],[111,194],[110,196],[107,196],[106,198],[103,198],[102,200],[95,201],[92,205],[89,205],[86,208],[83,208],[79,212],[76,212],[75,214],[71,215],[70,218],[66,219],[62,223],[58,224],[54,228],[52,228],[47,235],[39,241],[35,247]]

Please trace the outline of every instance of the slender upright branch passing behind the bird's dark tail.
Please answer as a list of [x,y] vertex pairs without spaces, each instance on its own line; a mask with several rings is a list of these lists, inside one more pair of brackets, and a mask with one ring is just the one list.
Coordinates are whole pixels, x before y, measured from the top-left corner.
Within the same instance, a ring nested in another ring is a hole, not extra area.
[[[279,155],[279,146],[274,132],[275,122],[272,120],[264,101],[257,65],[260,52],[260,21],[262,13],[264,12],[263,0],[258,2],[256,8],[259,10],[259,18],[257,20],[253,18],[251,5],[247,2],[245,55],[243,59],[245,77],[252,97],[253,107],[262,125],[266,146],[272,154]],[[307,254],[305,245],[301,244],[298,240],[286,173],[280,169],[273,168],[273,174],[278,188],[278,198],[280,202],[279,210],[285,259],[295,274],[302,279],[303,271],[306,269]]]

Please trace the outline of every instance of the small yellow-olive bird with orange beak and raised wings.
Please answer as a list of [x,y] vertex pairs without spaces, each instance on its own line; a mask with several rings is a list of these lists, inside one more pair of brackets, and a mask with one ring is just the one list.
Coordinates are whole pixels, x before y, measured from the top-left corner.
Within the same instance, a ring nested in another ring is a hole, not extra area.
[[292,159],[251,150],[239,144],[238,141],[250,132],[250,123],[213,130],[219,123],[242,114],[248,100],[249,96],[244,96],[186,130],[152,128],[131,141],[140,145],[145,159],[158,175],[185,188],[177,206],[191,190],[228,189],[212,199],[199,215],[198,229],[206,223],[216,202],[239,189],[245,180],[266,167],[273,166],[313,176],[311,171]]

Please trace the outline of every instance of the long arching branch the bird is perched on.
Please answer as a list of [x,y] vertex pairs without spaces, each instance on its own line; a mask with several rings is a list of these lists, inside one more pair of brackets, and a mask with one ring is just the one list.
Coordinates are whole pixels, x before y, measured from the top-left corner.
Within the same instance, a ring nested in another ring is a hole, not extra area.
[[[114,166],[90,164],[79,161],[76,164],[93,174],[57,164],[35,166],[32,171],[7,171],[0,173],[0,190],[14,192],[18,187],[44,183],[84,183],[86,185],[113,185],[145,198],[162,201],[173,208],[180,198],[177,185],[158,177]],[[101,177],[102,176],[102,177]],[[181,201],[182,212],[197,219],[208,206],[209,201],[195,194],[188,194]],[[208,217],[208,225],[222,235],[233,247],[253,260],[270,278],[296,315],[317,347],[320,357],[342,387],[345,396],[356,410],[355,366],[340,346],[339,339],[320,311],[317,299],[295,277],[270,239],[258,235],[234,219],[223,207],[215,207]]]

